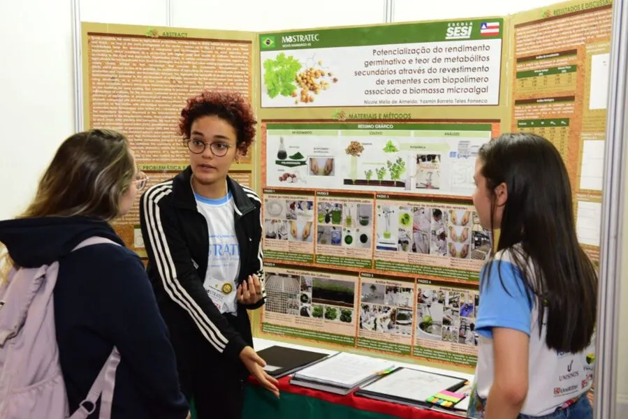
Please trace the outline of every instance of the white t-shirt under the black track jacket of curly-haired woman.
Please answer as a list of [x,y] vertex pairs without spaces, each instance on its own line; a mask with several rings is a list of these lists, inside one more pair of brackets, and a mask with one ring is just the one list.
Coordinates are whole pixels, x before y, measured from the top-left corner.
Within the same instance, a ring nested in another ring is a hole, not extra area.
[[240,272],[240,244],[235,236],[231,192],[224,198],[209,199],[194,193],[198,212],[207,220],[210,251],[203,287],[221,313],[238,313],[236,281]]

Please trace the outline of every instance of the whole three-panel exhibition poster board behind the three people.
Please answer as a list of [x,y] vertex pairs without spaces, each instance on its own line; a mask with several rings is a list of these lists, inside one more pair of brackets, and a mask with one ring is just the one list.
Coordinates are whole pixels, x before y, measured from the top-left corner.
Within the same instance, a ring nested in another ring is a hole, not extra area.
[[[478,149],[508,131],[552,141],[597,261],[610,29],[604,0],[272,34],[84,24],[86,126],[129,135],[154,184],[187,164],[187,96],[247,94],[257,145],[233,175],[263,202],[255,335],[471,369],[490,253]],[[141,255],[137,216],[116,227]]]

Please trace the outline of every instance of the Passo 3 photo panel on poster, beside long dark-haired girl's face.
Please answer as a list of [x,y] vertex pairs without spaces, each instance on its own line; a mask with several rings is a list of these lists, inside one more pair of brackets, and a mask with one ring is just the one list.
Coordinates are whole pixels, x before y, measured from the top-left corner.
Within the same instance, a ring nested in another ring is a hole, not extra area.
[[478,281],[490,234],[473,205],[378,194],[375,212],[376,270]]

